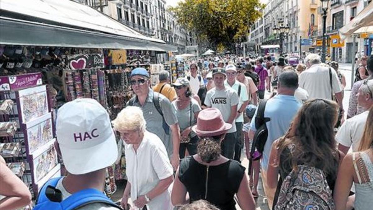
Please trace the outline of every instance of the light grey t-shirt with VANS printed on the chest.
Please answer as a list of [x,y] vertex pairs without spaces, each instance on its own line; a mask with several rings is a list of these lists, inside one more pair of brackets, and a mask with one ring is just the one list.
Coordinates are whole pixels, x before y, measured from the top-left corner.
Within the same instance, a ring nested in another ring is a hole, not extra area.
[[[238,94],[231,87],[225,87],[224,90],[213,88],[206,93],[205,104],[217,108],[222,112],[224,121],[228,121],[231,116],[231,108],[238,105]],[[236,123],[233,121],[232,128],[227,133],[236,132]]]

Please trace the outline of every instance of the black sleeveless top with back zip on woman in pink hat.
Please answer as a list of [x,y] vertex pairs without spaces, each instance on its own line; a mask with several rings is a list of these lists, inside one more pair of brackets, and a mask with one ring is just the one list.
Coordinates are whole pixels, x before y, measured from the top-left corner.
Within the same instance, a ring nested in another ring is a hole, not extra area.
[[235,160],[206,166],[188,156],[179,167],[179,179],[189,192],[190,202],[203,199],[221,210],[236,210],[233,197],[244,175],[245,167]]

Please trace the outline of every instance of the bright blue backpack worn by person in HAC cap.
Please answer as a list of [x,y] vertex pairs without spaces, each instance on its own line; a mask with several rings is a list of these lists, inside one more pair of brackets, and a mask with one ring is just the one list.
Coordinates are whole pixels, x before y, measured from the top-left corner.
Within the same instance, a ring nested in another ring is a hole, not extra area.
[[61,191],[56,189],[56,185],[61,178],[62,177],[50,179],[44,184],[38,195],[34,210],[74,210],[91,203],[105,203],[109,206],[122,209],[103,192],[92,188],[76,192],[62,201]]

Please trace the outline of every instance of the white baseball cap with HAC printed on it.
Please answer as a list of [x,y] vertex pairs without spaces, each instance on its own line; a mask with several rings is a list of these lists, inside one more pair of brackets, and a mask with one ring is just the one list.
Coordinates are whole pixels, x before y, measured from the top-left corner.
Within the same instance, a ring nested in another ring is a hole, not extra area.
[[109,114],[94,99],[81,98],[61,106],[57,142],[69,173],[80,175],[111,166],[118,151]]

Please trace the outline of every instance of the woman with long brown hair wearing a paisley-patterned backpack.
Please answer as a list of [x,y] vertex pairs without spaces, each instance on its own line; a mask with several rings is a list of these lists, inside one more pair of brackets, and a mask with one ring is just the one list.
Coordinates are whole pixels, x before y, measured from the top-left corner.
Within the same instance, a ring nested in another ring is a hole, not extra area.
[[266,180],[276,188],[273,209],[335,209],[332,192],[343,159],[334,138],[337,120],[335,102],[312,99],[299,110],[286,135],[273,143]]

